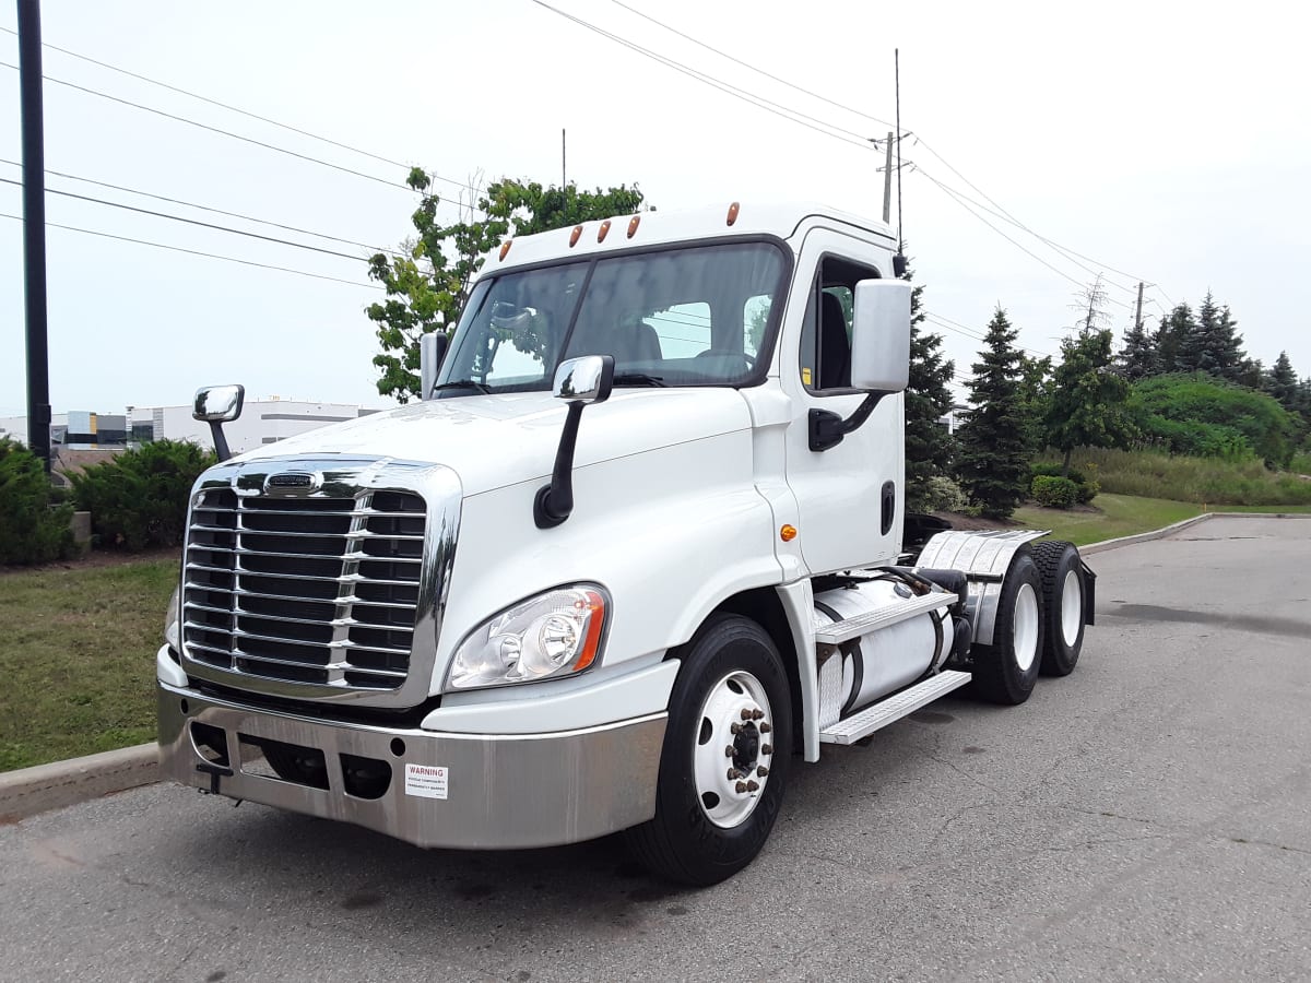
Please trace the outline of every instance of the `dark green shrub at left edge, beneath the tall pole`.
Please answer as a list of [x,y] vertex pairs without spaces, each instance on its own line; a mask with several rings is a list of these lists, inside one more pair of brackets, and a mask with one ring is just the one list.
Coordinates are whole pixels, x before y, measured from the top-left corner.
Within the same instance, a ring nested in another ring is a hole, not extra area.
[[41,459],[0,438],[0,564],[45,564],[73,553],[72,506],[54,505]]

